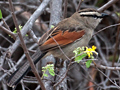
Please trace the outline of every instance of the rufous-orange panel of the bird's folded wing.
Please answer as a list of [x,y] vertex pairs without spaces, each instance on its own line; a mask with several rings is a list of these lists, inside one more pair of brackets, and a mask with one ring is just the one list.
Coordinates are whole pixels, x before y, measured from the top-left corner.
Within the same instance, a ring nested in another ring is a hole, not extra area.
[[73,43],[77,39],[81,38],[85,34],[85,30],[77,30],[77,31],[62,31],[57,30],[57,32],[53,32],[51,37],[48,38],[41,46],[42,51],[48,51],[50,49],[55,49],[60,45],[61,47]]

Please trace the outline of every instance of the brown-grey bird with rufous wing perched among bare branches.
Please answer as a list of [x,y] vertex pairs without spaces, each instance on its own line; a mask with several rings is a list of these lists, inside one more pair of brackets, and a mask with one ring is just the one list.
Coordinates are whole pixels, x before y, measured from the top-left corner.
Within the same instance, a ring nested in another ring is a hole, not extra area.
[[[38,49],[32,56],[34,64],[51,54],[63,60],[66,60],[67,57],[73,57],[74,49],[88,45],[95,28],[106,16],[108,14],[101,13],[93,8],[87,8],[63,19],[40,38]],[[64,53],[61,52],[59,47]],[[7,85],[15,87],[30,70],[29,62],[26,61],[9,77]]]

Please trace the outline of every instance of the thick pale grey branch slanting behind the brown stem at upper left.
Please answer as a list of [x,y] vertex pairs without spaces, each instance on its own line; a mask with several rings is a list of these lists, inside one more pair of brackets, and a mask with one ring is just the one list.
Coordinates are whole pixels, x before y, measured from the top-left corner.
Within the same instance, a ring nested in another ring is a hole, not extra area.
[[[33,23],[35,22],[35,20],[43,13],[44,9],[46,8],[46,6],[48,5],[50,0],[44,0],[40,6],[38,7],[38,9],[32,14],[32,16],[30,17],[30,19],[26,22],[26,24],[24,25],[24,27],[21,30],[21,34],[24,37],[26,35],[26,33],[32,28]],[[17,47],[20,45],[20,39],[17,39],[15,41],[15,43],[9,48],[8,51],[8,57],[10,57],[13,52],[17,49]]]

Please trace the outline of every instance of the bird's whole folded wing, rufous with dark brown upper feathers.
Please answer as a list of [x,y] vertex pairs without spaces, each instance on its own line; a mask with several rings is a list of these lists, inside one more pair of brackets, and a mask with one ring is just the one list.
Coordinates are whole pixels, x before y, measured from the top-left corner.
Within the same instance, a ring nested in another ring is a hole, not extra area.
[[58,48],[58,45],[63,47],[81,38],[84,34],[85,30],[80,27],[63,29],[56,26],[41,37],[39,41],[40,49],[41,51],[48,51]]

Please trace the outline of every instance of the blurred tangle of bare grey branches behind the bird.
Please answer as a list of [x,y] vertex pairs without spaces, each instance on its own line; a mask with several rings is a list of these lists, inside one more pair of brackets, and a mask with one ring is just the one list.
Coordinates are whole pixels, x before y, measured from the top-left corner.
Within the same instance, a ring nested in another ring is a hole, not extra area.
[[[8,77],[26,60],[18,33],[14,31],[15,24],[8,1],[0,1],[3,17],[0,19],[0,90],[12,90],[6,84]],[[12,3],[17,23],[22,26],[21,33],[30,55],[35,52],[39,38],[50,29],[51,25],[56,25],[77,10],[95,8],[108,13],[109,17],[102,20],[89,42],[90,47],[92,45],[97,47],[99,55],[95,60],[96,65],[91,64],[90,68],[86,68],[83,60],[80,63],[73,62],[69,67],[69,62],[61,63],[57,60],[56,76],[48,74],[43,84],[46,90],[53,90],[56,84],[56,90],[120,89],[119,0],[12,0]],[[105,6],[102,7],[103,5]],[[50,56],[36,65],[41,76],[41,67],[50,61],[55,62],[55,59]],[[33,76],[33,73],[29,72],[15,89],[40,90],[40,85]]]

